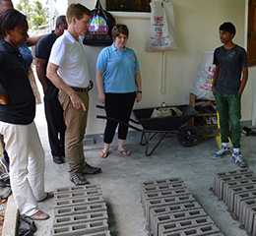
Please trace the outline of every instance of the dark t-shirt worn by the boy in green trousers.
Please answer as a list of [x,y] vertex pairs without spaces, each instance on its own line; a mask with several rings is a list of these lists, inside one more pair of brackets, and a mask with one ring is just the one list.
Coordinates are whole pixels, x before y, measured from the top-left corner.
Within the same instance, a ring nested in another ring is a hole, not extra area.
[[215,90],[223,94],[237,93],[240,88],[242,68],[248,66],[246,51],[238,45],[231,49],[218,47],[214,53],[214,64],[220,65]]

